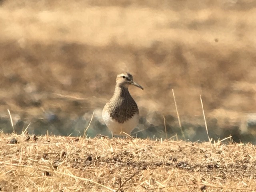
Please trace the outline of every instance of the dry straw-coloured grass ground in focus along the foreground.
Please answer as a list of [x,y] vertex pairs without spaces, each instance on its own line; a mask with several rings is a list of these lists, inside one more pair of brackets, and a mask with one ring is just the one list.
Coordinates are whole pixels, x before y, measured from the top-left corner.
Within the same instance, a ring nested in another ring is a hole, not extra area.
[[0,134],[2,191],[256,191],[251,144],[26,138]]

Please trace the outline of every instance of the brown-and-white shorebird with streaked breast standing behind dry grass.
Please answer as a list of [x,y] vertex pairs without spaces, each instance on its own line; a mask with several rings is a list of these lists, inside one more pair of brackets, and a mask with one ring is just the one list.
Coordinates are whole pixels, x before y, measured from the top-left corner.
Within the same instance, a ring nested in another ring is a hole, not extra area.
[[112,135],[130,134],[139,122],[139,109],[130,95],[129,85],[143,90],[142,86],[133,81],[131,74],[117,75],[114,95],[102,110],[102,118]]

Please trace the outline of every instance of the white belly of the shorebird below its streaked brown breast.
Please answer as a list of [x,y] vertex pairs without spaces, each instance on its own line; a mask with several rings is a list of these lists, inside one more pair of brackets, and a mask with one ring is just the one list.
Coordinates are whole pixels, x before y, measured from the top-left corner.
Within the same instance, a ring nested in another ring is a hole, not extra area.
[[[118,123],[112,118],[110,118],[110,115],[108,112],[103,111],[102,112],[102,118],[104,122],[106,123],[106,126],[108,129],[114,134],[114,135],[126,135],[130,134],[132,130],[138,125],[139,123],[139,114],[135,114],[127,120],[124,123]],[[126,134],[123,134],[122,132],[125,132]]]

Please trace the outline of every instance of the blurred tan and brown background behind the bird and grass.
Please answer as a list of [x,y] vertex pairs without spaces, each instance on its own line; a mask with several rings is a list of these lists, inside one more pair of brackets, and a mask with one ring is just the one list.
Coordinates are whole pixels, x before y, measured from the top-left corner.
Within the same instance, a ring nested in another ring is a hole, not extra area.
[[[236,142],[256,136],[254,0],[0,0],[0,129],[111,136],[116,75],[140,109],[132,136]],[[180,114],[178,124],[174,99]],[[164,118],[166,132],[164,128]]]

